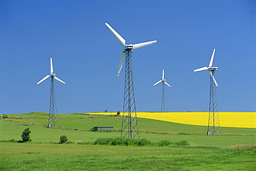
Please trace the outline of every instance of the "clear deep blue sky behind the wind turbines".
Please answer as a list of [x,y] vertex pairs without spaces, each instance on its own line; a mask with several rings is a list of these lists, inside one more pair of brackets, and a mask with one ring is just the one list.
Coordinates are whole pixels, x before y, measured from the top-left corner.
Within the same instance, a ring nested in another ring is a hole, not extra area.
[[[53,58],[57,113],[122,111],[122,45],[158,42],[132,54],[137,112],[208,111],[213,66],[219,111],[256,111],[256,3],[244,1],[0,1],[0,114],[48,112]],[[124,68],[123,68],[124,69]]]

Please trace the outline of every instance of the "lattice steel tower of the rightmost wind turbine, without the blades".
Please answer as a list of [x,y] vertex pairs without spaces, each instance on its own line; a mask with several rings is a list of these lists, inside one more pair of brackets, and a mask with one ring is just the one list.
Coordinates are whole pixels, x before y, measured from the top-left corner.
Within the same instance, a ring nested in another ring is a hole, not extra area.
[[[214,70],[210,72],[212,72],[212,77],[214,77]],[[208,135],[210,135],[210,132],[212,134],[221,133],[217,97],[216,97],[216,85],[212,78],[210,78],[210,105],[209,105],[209,119],[208,119],[207,132],[208,132]]]

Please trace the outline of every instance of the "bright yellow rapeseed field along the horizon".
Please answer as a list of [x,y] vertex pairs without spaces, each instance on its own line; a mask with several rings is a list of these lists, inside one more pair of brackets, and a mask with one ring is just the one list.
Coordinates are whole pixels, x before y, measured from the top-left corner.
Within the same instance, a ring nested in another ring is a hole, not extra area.
[[[190,125],[208,125],[209,112],[137,112],[137,117]],[[219,121],[221,127],[256,128],[256,112],[219,112]]]

